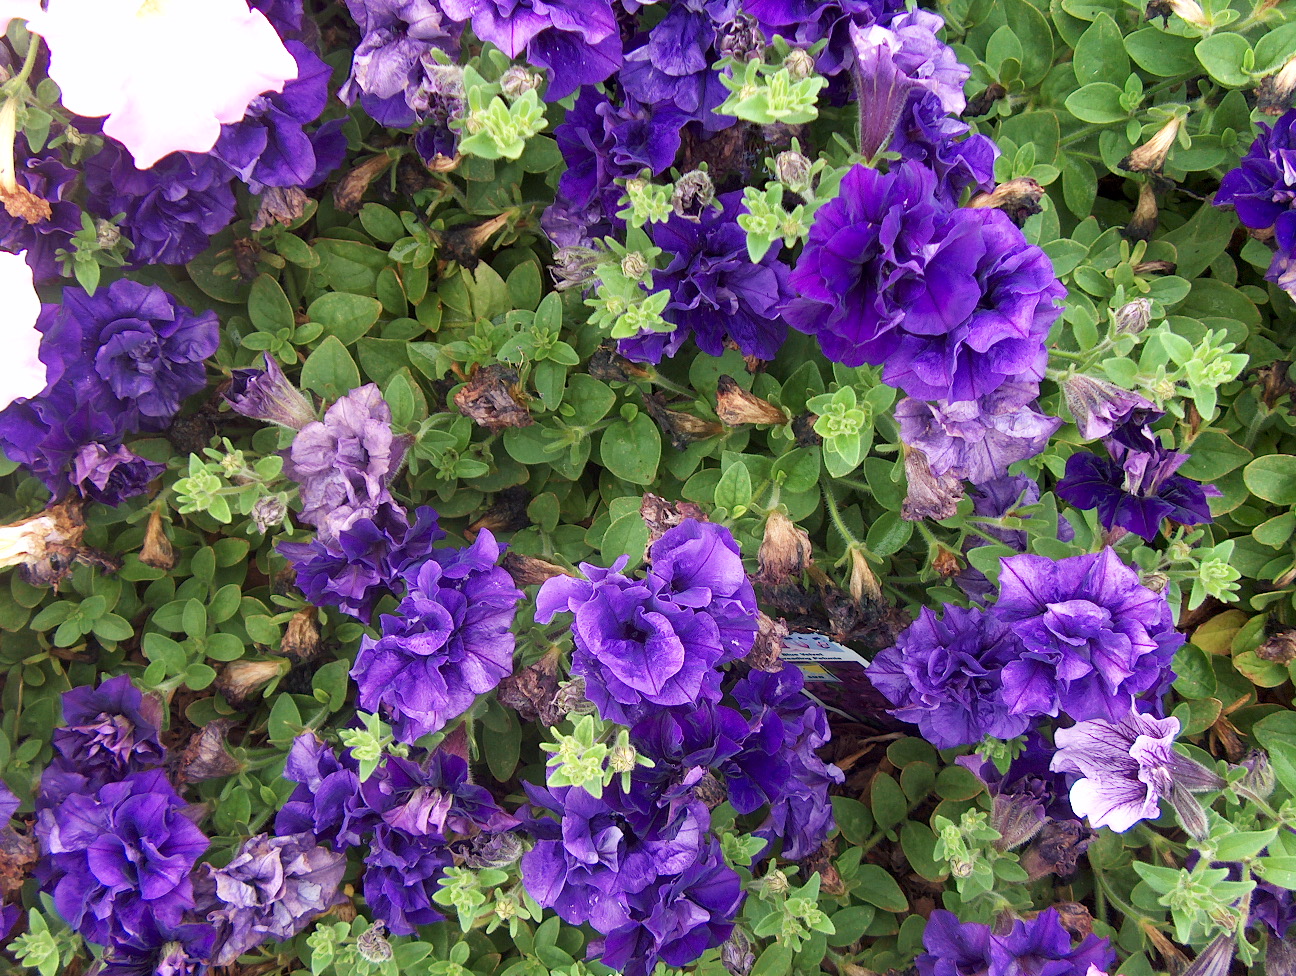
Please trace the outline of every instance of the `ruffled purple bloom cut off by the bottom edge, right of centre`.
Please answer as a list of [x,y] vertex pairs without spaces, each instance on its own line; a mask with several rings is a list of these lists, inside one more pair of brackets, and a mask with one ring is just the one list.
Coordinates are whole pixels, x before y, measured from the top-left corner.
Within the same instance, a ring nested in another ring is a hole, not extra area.
[[1003,935],[937,909],[923,931],[923,946],[927,951],[914,960],[919,976],[1086,976],[1090,967],[1105,972],[1116,962],[1105,938],[1087,935],[1072,945],[1070,933],[1051,907],[1029,922],[1015,920]]

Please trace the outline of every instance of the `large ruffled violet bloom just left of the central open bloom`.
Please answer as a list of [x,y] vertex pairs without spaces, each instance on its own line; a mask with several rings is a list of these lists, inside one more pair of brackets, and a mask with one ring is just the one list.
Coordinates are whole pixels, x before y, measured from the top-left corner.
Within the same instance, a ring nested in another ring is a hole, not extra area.
[[351,677],[360,706],[380,708],[400,741],[412,743],[472,708],[513,673],[509,627],[522,592],[498,566],[487,530],[468,548],[437,550],[408,570],[410,591],[382,636],[365,636]]

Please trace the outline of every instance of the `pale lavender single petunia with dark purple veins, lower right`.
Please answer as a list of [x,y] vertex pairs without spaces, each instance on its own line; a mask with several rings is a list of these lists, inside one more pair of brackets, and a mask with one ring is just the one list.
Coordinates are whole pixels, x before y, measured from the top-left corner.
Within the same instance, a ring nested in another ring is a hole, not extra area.
[[1223,780],[1174,752],[1179,719],[1130,712],[1113,722],[1078,722],[1054,736],[1051,769],[1077,774],[1070,806],[1094,827],[1124,832],[1160,815],[1163,798],[1182,806],[1182,793],[1218,789]]

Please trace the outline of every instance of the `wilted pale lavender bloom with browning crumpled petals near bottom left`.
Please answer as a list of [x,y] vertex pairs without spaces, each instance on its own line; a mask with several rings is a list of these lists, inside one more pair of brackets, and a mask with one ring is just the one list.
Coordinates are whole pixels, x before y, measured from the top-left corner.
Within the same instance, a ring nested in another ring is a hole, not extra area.
[[266,941],[292,938],[341,901],[346,858],[325,850],[311,833],[271,837],[258,833],[224,867],[205,866],[222,906],[214,966],[229,966]]

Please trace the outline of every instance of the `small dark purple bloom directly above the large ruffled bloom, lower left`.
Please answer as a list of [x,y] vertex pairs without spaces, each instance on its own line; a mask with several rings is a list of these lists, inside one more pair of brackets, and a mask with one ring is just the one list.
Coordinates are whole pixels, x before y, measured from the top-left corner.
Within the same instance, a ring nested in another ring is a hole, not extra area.
[[53,732],[62,758],[96,785],[122,779],[166,758],[158,739],[162,703],[124,674],[64,692],[64,725]]

